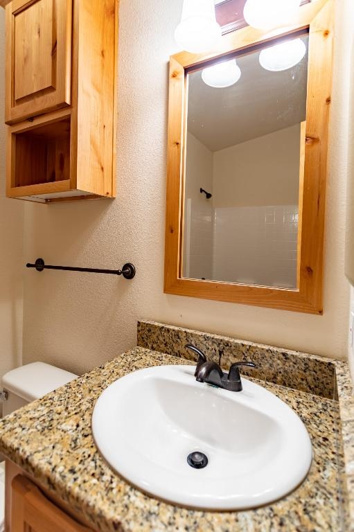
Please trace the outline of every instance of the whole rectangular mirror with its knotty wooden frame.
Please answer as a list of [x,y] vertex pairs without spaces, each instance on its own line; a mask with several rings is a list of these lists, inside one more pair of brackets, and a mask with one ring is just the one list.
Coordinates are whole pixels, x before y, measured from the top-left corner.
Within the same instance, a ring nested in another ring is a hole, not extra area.
[[170,58],[164,292],[323,313],[332,53],[317,0]]

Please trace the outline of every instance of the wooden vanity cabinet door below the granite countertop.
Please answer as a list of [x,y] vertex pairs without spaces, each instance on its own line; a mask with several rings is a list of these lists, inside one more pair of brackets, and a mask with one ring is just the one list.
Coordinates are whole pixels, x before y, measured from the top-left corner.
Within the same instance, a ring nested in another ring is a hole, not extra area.
[[12,480],[11,532],[93,532],[48,501],[26,477]]

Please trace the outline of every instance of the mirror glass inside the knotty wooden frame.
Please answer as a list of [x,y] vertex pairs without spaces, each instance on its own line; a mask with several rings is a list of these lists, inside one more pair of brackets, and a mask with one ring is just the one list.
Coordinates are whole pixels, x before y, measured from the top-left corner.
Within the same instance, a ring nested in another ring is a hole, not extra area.
[[212,66],[187,75],[182,277],[297,289],[308,34]]

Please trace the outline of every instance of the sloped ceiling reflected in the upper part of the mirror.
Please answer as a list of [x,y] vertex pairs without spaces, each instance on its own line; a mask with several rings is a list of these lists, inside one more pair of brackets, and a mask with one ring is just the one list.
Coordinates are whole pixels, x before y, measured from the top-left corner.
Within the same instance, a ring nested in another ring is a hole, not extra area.
[[[302,39],[308,47],[308,36]],[[306,119],[308,54],[281,72],[263,69],[258,57],[238,57],[241,78],[224,89],[205,85],[201,70],[188,76],[188,131],[212,152]]]

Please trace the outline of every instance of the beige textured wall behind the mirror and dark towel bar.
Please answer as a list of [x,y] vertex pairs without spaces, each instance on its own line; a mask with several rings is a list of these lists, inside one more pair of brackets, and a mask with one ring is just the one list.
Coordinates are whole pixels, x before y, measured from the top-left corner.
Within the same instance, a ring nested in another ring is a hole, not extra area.
[[[330,130],[324,316],[163,294],[168,56],[182,0],[122,0],[118,197],[26,209],[26,260],[120,267],[134,281],[25,272],[24,359],[85,371],[136,343],[136,320],[156,319],[321,355],[346,356],[344,224],[351,0],[337,1]],[[158,16],[157,16],[158,14]],[[349,29],[349,28],[348,28]],[[352,29],[352,28],[351,28]]]

